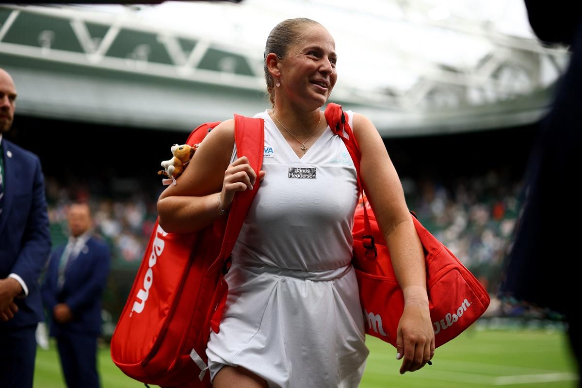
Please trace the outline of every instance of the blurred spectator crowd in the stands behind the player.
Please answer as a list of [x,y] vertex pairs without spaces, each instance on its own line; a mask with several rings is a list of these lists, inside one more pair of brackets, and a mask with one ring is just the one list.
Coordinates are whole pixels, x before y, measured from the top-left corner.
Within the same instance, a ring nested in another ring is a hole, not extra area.
[[[521,190],[502,172],[448,181],[402,179],[409,208],[494,293],[518,212]],[[93,209],[95,232],[112,248],[112,269],[139,266],[157,217],[160,187],[151,193],[98,198],[87,187],[60,186],[47,177],[53,246],[66,241],[66,209],[73,200]]]

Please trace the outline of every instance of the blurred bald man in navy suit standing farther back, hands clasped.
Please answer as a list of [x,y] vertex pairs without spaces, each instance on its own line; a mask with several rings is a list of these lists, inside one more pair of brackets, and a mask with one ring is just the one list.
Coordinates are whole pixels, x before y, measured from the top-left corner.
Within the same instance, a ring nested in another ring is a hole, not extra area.
[[42,301],[51,317],[51,336],[69,388],[99,387],[97,337],[101,333],[101,295],[109,272],[109,248],[91,236],[87,204],[67,213],[70,237],[52,252]]

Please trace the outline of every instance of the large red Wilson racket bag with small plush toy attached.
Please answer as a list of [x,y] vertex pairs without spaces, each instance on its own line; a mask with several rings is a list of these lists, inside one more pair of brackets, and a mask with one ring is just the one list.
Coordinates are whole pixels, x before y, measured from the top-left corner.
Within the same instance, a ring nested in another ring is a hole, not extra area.
[[[195,129],[187,144],[200,143],[216,124]],[[235,141],[258,175],[262,119],[235,115]],[[228,294],[223,276],[257,183],[236,193],[228,218],[200,232],[166,233],[156,222],[111,340],[111,358],[127,376],[162,387],[211,387],[206,346],[210,330],[218,332]]]

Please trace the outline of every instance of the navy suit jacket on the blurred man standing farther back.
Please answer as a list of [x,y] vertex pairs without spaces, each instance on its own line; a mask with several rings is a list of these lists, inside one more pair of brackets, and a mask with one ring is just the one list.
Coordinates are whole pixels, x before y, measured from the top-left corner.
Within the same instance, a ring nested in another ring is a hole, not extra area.
[[[48,311],[51,336],[68,332],[98,336],[101,333],[101,296],[109,273],[109,248],[95,237],[88,239],[79,255],[70,257],[64,282],[59,286],[59,263],[65,247],[62,245],[52,252],[42,283],[42,301]],[[69,306],[72,321],[55,322],[52,311],[58,303]]]

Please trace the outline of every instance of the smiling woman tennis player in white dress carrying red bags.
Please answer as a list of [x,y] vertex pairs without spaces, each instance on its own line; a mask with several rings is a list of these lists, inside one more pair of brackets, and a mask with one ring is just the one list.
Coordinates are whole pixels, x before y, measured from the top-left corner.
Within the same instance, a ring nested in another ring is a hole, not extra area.
[[[264,178],[225,276],[220,330],[210,334],[212,383],[355,387],[368,355],[351,264],[356,168],[351,160],[337,162],[347,148],[320,110],[338,77],[335,42],[320,23],[289,19],[269,34],[264,58],[273,109],[255,118],[264,120],[264,145],[274,150],[264,170],[257,176],[246,157],[236,158],[234,120],[226,120],[204,139],[178,184],[162,193],[159,223],[167,232],[200,230],[225,215],[236,191],[253,190]],[[361,179],[404,293],[400,373],[416,371],[434,354],[423,248],[374,124],[352,112],[349,120],[361,149]],[[299,166],[317,179],[290,176]]]

